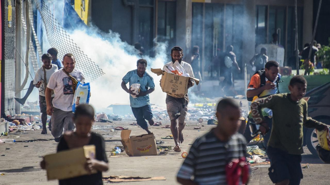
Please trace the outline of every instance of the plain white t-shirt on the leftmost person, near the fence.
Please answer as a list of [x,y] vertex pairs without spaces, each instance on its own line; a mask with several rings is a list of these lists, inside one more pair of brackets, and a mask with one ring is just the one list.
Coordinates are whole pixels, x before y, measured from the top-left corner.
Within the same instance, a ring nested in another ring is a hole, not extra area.
[[[47,84],[49,82],[49,78],[50,76],[54,73],[58,71],[58,67],[55,65],[55,64],[51,64],[51,68],[50,69],[46,69],[46,80],[47,80]],[[36,72],[36,76],[34,77],[33,79],[33,84],[37,84],[38,82],[41,81],[41,85],[40,85],[40,88],[39,88],[39,95],[41,96],[45,96],[45,79],[44,79],[44,68],[41,67],[40,69],[37,70]],[[51,97],[54,97],[55,94],[52,94]]]

